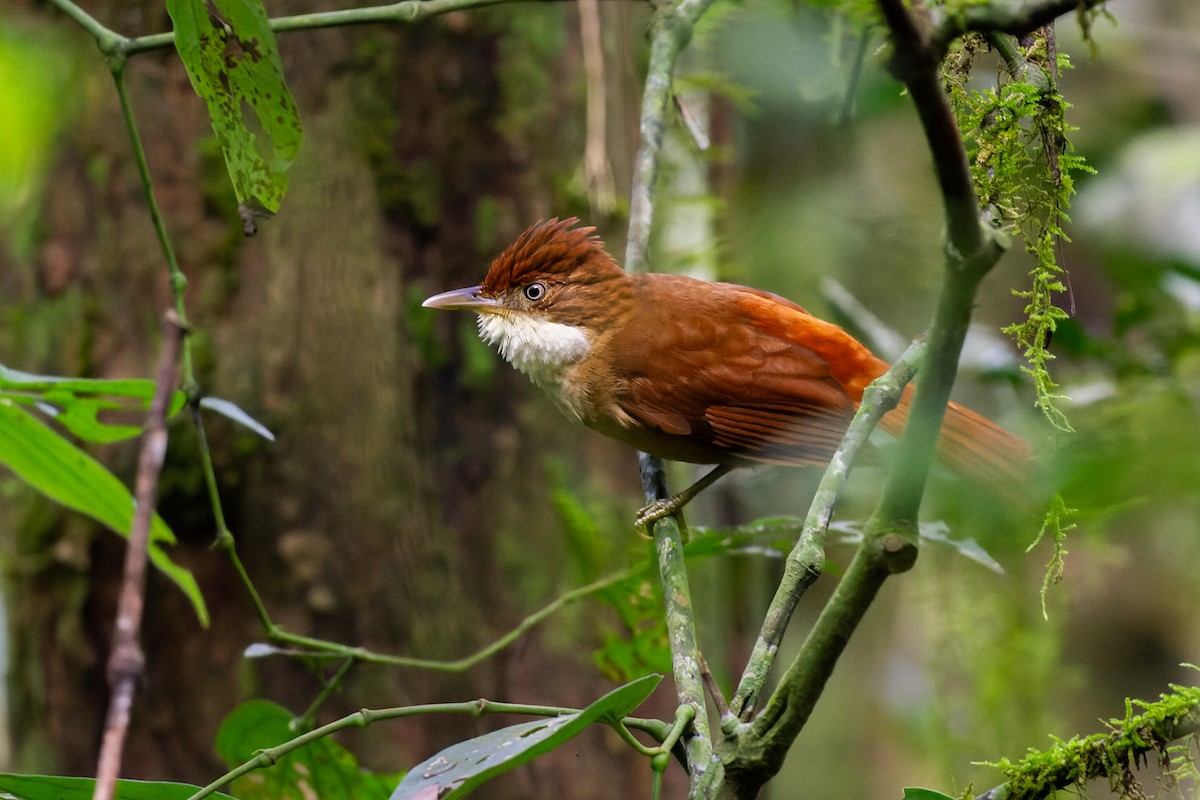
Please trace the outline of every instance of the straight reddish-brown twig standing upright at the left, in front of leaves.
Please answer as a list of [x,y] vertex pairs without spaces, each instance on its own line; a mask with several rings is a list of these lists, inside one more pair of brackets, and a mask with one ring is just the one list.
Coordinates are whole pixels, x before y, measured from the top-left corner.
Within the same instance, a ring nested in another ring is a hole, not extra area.
[[142,612],[145,607],[146,551],[150,543],[150,523],[154,519],[158,474],[167,455],[167,409],[175,391],[179,353],[184,327],[174,312],[168,311],[162,324],[162,353],[155,378],[155,393],[150,403],[134,497],[133,523],[130,543],[125,551],[125,573],[116,601],[116,622],[113,627],[113,652],[108,660],[108,682],[112,697],[104,721],[104,738],[96,765],[95,800],[110,800],[115,795],[116,777],[121,771],[121,754],[130,728],[130,710],[145,656],[139,643]]

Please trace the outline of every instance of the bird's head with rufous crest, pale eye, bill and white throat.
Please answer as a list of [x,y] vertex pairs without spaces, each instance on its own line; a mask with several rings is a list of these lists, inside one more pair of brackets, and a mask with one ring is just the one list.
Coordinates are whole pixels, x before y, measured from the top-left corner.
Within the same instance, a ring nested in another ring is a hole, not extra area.
[[563,369],[587,357],[631,294],[629,276],[595,228],[577,223],[536,223],[492,261],[481,284],[421,305],[475,312],[479,335],[512,366],[540,385],[557,383]]

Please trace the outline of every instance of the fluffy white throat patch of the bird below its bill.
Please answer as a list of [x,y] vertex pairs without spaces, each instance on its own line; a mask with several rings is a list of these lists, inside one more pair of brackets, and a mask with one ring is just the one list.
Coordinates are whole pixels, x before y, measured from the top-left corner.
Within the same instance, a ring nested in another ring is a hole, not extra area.
[[479,336],[546,390],[560,389],[563,372],[582,361],[592,347],[582,327],[528,314],[480,314]]

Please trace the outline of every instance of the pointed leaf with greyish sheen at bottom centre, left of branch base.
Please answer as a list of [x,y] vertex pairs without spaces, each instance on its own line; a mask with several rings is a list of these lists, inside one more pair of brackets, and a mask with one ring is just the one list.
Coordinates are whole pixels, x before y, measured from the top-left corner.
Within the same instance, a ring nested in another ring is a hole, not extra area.
[[661,675],[646,675],[577,714],[509,726],[446,747],[410,769],[391,800],[461,798],[480,783],[558,747],[593,722],[611,722],[630,714],[660,680]]

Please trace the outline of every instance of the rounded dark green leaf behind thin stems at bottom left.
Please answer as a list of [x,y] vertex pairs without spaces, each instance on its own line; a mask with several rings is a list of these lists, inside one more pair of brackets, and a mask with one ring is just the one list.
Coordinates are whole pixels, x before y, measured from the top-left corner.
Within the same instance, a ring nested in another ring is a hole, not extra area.
[[[217,753],[230,768],[245,764],[258,751],[300,735],[292,721],[292,714],[275,703],[242,703],[221,723]],[[383,800],[400,778],[365,771],[348,750],[325,738],[283,756],[265,770],[242,776],[233,790],[240,800]]]

